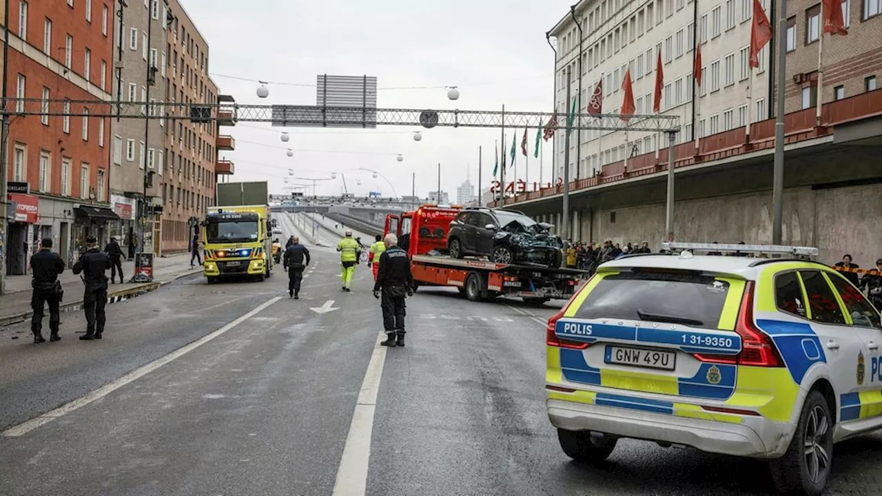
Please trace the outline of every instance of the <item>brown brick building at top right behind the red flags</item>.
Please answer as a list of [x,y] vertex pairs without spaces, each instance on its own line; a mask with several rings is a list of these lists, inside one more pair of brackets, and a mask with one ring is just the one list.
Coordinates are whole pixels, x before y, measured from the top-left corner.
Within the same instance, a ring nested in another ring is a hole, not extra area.
[[[820,7],[816,0],[787,4],[787,112],[811,108],[818,101]],[[882,77],[882,1],[843,0],[841,7],[848,34],[824,34],[822,103],[875,90]]]

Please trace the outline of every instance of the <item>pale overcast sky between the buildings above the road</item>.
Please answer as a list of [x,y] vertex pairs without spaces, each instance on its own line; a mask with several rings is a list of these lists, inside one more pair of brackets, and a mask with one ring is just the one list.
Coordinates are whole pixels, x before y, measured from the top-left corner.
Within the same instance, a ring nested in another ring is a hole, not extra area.
[[[550,112],[554,58],[545,32],[573,2],[183,0],[183,5],[206,37],[209,71],[221,94],[232,94],[239,103],[314,105],[316,89],[272,84],[269,98],[261,100],[257,83],[223,76],[314,85],[318,74],[367,74],[376,76],[381,88],[379,108],[493,110],[505,104],[514,111]],[[454,102],[443,88],[382,89],[389,86],[459,86],[461,95]],[[290,128],[286,144],[280,140],[281,128],[238,124],[222,128],[235,137],[236,148],[221,157],[235,162],[232,180],[270,181],[276,193],[284,191],[288,169],[294,169],[295,177],[330,178],[332,171],[368,168],[387,177],[399,196],[410,194],[415,173],[416,192],[422,197],[436,189],[440,162],[442,188],[455,200],[456,187],[467,175],[477,183],[478,147],[483,146],[482,182],[489,185],[499,130],[422,130],[422,141],[416,142],[412,132],[417,130]],[[511,139],[509,133],[506,150]],[[537,181],[533,140],[530,132],[529,179]],[[545,181],[551,169],[550,143],[544,150]],[[288,147],[294,157],[286,155]],[[403,154],[404,162],[397,162],[396,154]],[[517,162],[518,176],[524,178],[524,157],[519,154]],[[382,177],[352,172],[346,179],[348,192],[356,195],[392,195]],[[340,194],[342,186],[338,174],[334,181],[319,183],[318,194]]]

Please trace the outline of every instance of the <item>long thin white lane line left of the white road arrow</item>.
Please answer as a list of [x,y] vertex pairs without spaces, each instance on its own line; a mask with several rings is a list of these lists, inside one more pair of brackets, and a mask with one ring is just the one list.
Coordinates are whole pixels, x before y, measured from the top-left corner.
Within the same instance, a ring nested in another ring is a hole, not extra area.
[[266,301],[265,303],[258,305],[258,307],[254,308],[250,312],[244,314],[242,317],[239,317],[238,319],[233,320],[232,322],[228,323],[224,327],[216,329],[216,330],[212,331],[211,333],[202,336],[198,340],[191,342],[190,344],[184,346],[183,348],[176,349],[175,351],[172,351],[171,353],[169,353],[165,357],[157,358],[156,360],[153,360],[153,362],[150,362],[149,364],[146,364],[146,365],[144,365],[144,366],[142,366],[132,372],[129,372],[129,373],[123,375],[123,377],[121,377],[117,380],[114,380],[113,382],[109,383],[108,385],[103,386],[103,387],[99,387],[98,389],[95,389],[93,392],[88,393],[84,396],[80,396],[76,400],[73,400],[72,402],[64,404],[64,405],[56,408],[55,410],[51,410],[47,413],[44,413],[40,417],[32,418],[31,420],[23,422],[19,425],[14,425],[14,426],[10,427],[9,429],[6,429],[4,432],[0,432],[0,435],[2,435],[4,437],[10,437],[10,438],[24,435],[27,432],[31,432],[34,429],[36,429],[37,427],[40,427],[41,425],[48,424],[49,422],[55,420],[58,417],[62,417],[68,413],[71,413],[71,411],[73,411],[73,410],[77,410],[77,409],[84,407],[87,404],[89,404],[95,400],[99,400],[99,399],[103,398],[104,396],[107,396],[110,393],[113,393],[114,391],[116,391],[116,389],[119,389],[120,387],[123,387],[126,384],[129,384],[130,382],[132,382],[134,380],[138,380],[139,378],[144,377],[146,374],[153,372],[154,370],[160,368],[162,365],[168,364],[169,362],[171,362],[172,360],[175,360],[176,358],[183,357],[187,353],[190,353],[193,349],[197,349],[198,347],[202,346],[206,342],[212,341],[214,338],[220,336],[221,334],[226,333],[228,330],[232,329],[233,327],[238,326],[239,324],[243,323],[245,320],[248,320],[251,317],[257,315],[259,312],[263,312],[266,307],[268,307],[271,304],[274,304],[275,302],[279,301],[280,299],[281,299],[280,297],[274,297],[274,298]]

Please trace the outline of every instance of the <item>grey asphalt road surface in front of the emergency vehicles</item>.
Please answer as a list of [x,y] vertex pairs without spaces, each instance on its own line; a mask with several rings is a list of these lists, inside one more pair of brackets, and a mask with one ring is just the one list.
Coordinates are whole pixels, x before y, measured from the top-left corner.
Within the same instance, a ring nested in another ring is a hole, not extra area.
[[[337,254],[312,252],[301,300],[280,271],[212,286],[196,275],[109,305],[101,342],[76,339],[79,312],[64,314],[61,342],[31,344],[26,325],[0,333],[0,494],[329,495],[353,482],[377,496],[769,491],[762,462],[639,441],[600,468],[569,461],[542,388],[542,321],[559,304],[420,289],[407,347],[377,348],[366,267],[342,293]],[[376,401],[363,402],[371,377]],[[371,432],[363,442],[350,432],[359,411],[373,419],[372,431],[356,423]],[[830,492],[878,492],[879,448],[879,436],[838,445]]]

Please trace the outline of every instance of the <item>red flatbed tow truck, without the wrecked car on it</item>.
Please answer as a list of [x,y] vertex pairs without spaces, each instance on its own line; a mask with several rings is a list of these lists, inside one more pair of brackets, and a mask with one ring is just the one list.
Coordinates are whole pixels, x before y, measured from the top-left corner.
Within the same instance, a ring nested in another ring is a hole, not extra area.
[[462,207],[424,204],[403,214],[387,214],[383,235],[392,233],[407,251],[420,286],[452,286],[470,301],[520,297],[527,304],[569,299],[588,273],[560,267],[500,264],[485,259],[453,259],[447,252],[450,222]]

